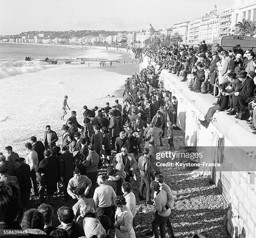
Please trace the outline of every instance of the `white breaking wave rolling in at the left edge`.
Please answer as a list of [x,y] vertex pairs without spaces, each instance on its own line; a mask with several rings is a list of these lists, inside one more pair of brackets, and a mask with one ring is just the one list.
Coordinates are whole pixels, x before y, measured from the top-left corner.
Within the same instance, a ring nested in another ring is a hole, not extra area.
[[18,74],[34,73],[40,70],[54,68],[58,65],[50,65],[41,61],[2,61],[0,63],[0,79],[8,78]]

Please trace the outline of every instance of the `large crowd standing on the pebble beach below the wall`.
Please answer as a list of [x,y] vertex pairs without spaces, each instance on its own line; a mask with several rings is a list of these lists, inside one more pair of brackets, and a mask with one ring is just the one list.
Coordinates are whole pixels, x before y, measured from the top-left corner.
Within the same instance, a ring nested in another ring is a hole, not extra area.
[[[8,145],[0,153],[0,229],[22,229],[36,237],[136,237],[136,205],[154,206],[152,229],[145,235],[174,237],[170,222],[174,198],[156,166],[156,153],[167,140],[174,150],[177,99],[163,88],[154,67],[125,80],[123,103],[84,105],[62,125],[62,135],[46,125],[44,140],[31,136],[22,158]],[[64,121],[70,110],[64,96]],[[145,146],[143,148],[143,141]],[[131,181],[141,179],[140,189]],[[145,193],[144,193],[144,190]],[[67,204],[54,214],[54,194]],[[136,196],[138,199],[136,201]],[[30,208],[30,199],[38,208]],[[60,222],[53,226],[53,217]],[[24,233],[23,233],[24,234]],[[7,234],[10,235],[10,234]]]

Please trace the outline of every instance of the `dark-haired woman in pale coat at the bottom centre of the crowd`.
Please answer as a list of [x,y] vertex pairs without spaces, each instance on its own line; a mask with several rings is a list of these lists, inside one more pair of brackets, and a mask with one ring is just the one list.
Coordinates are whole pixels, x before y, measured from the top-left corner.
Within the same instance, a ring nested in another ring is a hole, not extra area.
[[123,196],[115,198],[115,238],[136,238],[133,230],[133,215],[126,207],[126,201]]

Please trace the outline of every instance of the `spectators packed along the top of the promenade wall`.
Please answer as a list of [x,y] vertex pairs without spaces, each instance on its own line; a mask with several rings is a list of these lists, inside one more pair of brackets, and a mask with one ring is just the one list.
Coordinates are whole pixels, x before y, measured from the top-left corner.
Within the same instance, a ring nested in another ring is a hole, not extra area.
[[156,73],[167,69],[182,78],[195,93],[210,93],[218,98],[209,108],[205,120],[208,127],[212,115],[225,111],[235,118],[246,120],[256,134],[256,56],[252,50],[243,51],[235,45],[232,50],[223,50],[216,43],[210,51],[202,41],[197,49],[188,45],[144,48],[145,53],[157,63]]

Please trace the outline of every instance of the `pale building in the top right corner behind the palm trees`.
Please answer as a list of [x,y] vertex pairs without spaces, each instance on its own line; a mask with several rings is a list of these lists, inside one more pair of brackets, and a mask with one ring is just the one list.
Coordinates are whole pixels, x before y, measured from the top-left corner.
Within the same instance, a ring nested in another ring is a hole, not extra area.
[[231,17],[231,32],[236,31],[236,24],[242,20],[256,21],[256,0],[234,0]]

